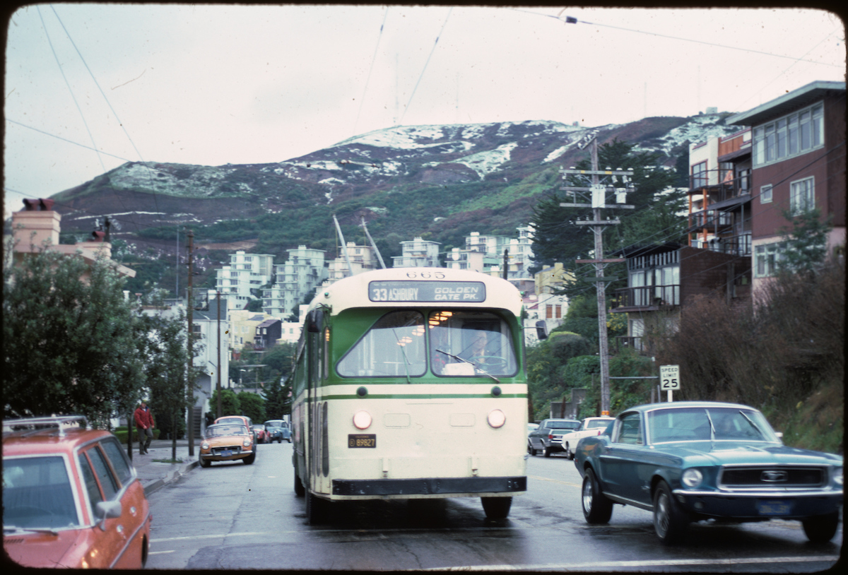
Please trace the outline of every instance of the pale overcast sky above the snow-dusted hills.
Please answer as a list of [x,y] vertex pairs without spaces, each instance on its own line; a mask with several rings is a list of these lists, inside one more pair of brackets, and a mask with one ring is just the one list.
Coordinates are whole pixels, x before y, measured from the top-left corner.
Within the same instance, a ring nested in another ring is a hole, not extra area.
[[8,217],[126,161],[278,162],[396,124],[745,111],[845,81],[845,28],[798,8],[56,3],[10,15],[5,64]]

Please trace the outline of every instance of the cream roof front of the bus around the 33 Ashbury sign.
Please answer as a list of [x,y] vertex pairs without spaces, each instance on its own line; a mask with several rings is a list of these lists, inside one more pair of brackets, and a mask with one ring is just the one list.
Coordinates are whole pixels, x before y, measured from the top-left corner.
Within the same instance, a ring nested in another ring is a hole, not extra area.
[[483,306],[520,315],[522,295],[506,280],[479,271],[451,270],[441,267],[406,267],[364,271],[319,287],[310,311],[329,305],[332,314],[362,307]]

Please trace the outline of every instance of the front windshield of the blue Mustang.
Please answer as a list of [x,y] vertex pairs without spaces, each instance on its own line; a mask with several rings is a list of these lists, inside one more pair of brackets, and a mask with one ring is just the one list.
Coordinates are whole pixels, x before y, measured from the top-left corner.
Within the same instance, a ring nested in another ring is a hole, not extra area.
[[678,441],[778,442],[759,411],[739,408],[664,408],[648,412],[650,443]]

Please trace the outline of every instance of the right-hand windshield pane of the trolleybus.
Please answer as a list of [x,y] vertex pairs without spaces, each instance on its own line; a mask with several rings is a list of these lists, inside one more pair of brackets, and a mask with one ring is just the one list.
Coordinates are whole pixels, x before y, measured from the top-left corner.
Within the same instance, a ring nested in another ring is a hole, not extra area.
[[510,376],[516,354],[510,327],[485,311],[436,311],[427,318],[432,371],[438,376]]

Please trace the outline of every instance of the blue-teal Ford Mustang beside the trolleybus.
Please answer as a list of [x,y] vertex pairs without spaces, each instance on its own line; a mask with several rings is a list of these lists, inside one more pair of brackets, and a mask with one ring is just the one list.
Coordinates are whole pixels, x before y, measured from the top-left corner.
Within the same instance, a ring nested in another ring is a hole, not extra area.
[[834,537],[843,458],[786,447],[760,411],[717,402],[639,405],[616,417],[611,435],[583,438],[583,516],[610,520],[612,504],[654,514],[663,543],[705,519],[801,521],[807,539]]

